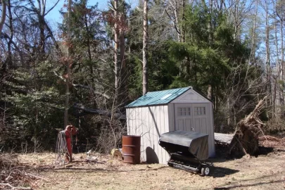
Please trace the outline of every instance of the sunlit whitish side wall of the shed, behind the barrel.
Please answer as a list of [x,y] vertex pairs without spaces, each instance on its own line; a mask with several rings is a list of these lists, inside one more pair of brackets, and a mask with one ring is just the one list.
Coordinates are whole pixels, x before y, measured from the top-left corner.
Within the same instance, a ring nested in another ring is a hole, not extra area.
[[141,136],[141,161],[167,163],[169,155],[158,140],[160,134],[169,132],[168,106],[127,108],[127,130],[129,135]]

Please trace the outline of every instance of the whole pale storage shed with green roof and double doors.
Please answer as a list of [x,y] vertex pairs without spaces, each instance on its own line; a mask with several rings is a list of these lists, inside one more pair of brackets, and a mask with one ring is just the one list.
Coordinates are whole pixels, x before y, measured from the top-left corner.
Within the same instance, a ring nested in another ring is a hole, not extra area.
[[213,103],[192,87],[148,92],[127,108],[127,134],[141,136],[141,160],[167,163],[160,134],[175,130],[209,135],[209,156],[215,156]]

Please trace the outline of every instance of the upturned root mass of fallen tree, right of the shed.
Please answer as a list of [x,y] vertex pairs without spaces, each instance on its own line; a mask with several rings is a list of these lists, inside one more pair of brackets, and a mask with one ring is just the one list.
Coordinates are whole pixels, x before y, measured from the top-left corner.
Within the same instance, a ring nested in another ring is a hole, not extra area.
[[229,155],[233,152],[235,156],[254,156],[259,153],[258,136],[263,133],[264,124],[258,117],[266,98],[260,100],[255,109],[237,124],[234,138],[229,144]]

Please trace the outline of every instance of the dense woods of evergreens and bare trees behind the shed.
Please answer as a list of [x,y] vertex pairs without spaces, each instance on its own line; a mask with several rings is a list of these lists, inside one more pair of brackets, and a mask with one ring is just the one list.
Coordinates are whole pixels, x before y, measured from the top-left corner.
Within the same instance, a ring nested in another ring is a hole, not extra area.
[[285,131],[283,0],[1,0],[0,151],[53,151],[80,129],[78,151],[108,152],[125,108],[147,91],[192,86],[213,101],[215,132],[267,96],[266,134]]

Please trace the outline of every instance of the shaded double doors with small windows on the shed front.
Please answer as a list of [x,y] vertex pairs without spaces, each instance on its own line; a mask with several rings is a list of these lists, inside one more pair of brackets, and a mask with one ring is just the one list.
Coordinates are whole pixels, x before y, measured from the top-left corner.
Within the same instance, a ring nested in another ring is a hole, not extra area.
[[175,130],[208,134],[207,103],[175,103]]

